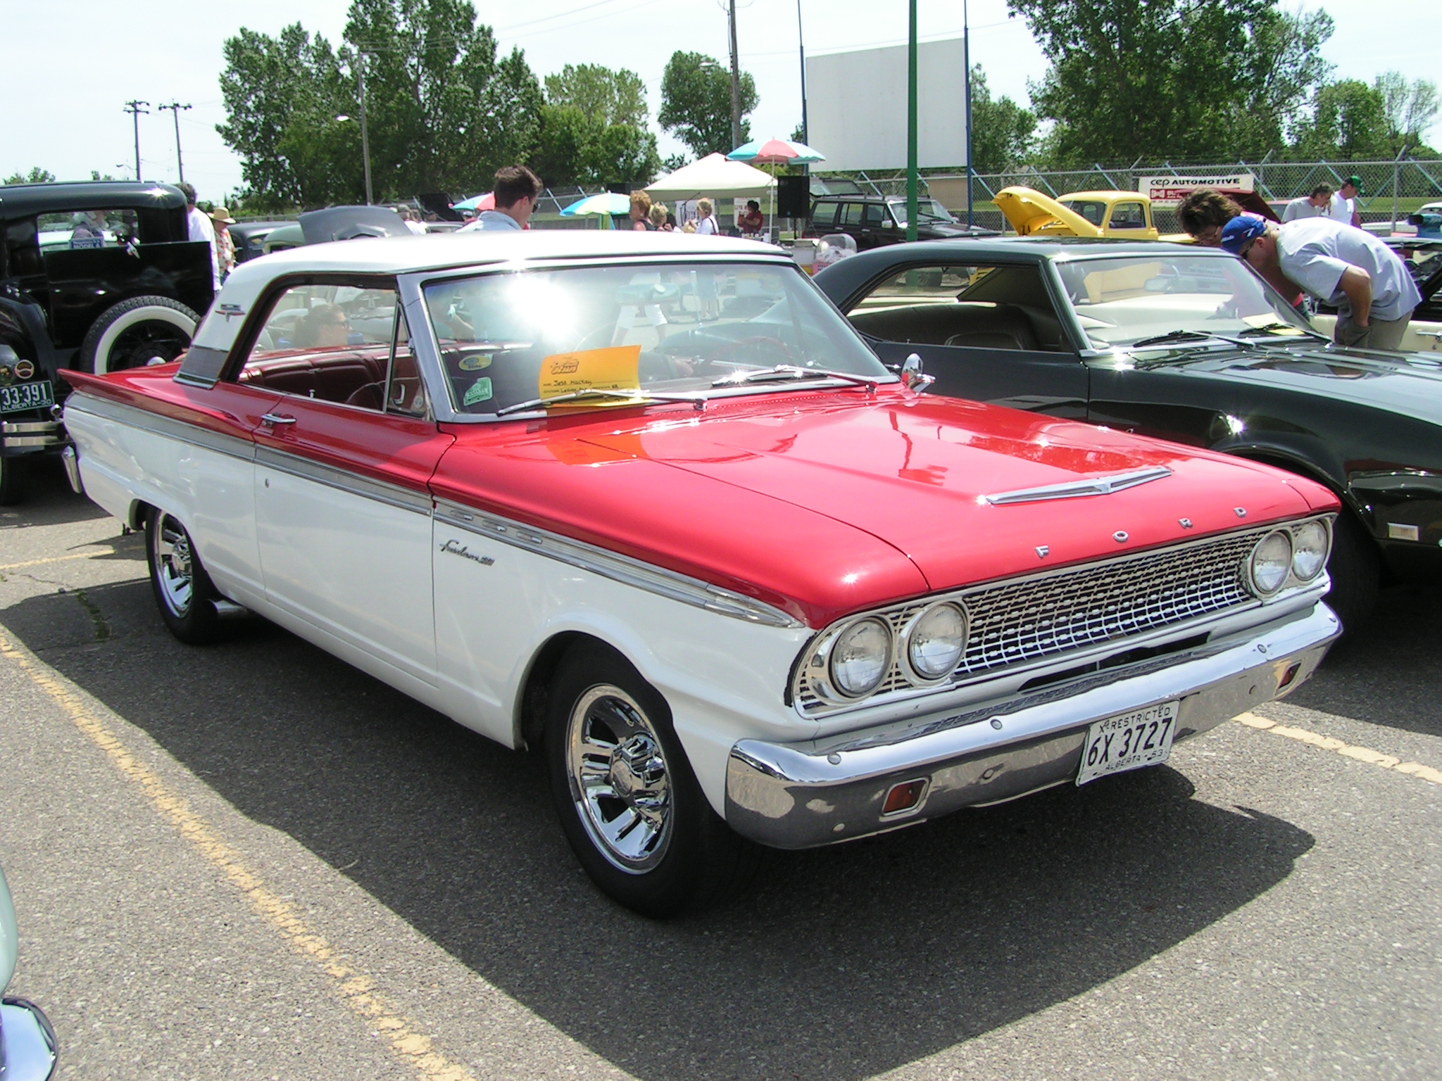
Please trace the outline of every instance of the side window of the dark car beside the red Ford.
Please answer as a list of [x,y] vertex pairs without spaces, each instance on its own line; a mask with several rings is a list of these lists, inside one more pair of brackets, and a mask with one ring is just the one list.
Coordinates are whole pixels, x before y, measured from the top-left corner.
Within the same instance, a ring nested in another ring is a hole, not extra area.
[[920,265],[872,285],[848,313],[883,342],[1061,352],[1061,321],[1034,265]]

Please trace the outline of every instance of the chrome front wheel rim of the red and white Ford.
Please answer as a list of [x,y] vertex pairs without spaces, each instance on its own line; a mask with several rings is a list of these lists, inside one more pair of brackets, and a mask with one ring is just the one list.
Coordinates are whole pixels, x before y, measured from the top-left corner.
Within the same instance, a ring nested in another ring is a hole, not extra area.
[[571,708],[567,775],[591,843],[632,875],[655,868],[672,833],[666,754],[650,718],[617,686],[593,686]]

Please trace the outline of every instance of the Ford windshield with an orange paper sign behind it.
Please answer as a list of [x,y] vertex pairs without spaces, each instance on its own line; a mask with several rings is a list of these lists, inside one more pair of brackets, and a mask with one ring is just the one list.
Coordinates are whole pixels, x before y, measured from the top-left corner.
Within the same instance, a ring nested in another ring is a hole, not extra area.
[[[784,265],[480,274],[434,281],[424,295],[451,399],[466,414],[559,395],[571,395],[564,408],[574,411],[626,405],[637,393],[761,393],[776,385],[743,381],[779,366],[786,382],[805,382],[805,369],[894,379],[816,287]],[[585,389],[623,393],[577,399]]]

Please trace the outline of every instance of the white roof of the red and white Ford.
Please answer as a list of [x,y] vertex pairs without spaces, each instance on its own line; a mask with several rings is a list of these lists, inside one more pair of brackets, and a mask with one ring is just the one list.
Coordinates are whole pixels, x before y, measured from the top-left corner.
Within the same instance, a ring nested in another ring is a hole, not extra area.
[[629,229],[531,229],[376,236],[310,244],[249,259],[235,268],[211,304],[195,344],[229,352],[251,304],[278,277],[288,274],[414,274],[485,267],[496,262],[564,258],[634,258],[699,255],[722,258],[787,258],[782,248],[730,236]]

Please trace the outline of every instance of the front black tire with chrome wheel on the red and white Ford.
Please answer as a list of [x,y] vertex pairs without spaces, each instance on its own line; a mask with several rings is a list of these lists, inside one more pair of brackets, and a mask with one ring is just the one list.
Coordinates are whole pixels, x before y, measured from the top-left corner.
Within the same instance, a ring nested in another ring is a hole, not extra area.
[[[600,758],[580,748],[606,739],[614,754],[603,773]],[[545,755],[561,830],[585,873],[619,904],[665,918],[717,904],[750,879],[757,846],[733,833],[707,803],[666,700],[616,650],[584,643],[561,660],[548,695]],[[572,783],[571,762],[583,758],[597,778],[590,791],[610,796],[588,800]],[[603,822],[616,830],[616,848],[596,832]],[[663,824],[658,829],[656,822]],[[634,826],[630,833],[627,824]],[[629,856],[622,852],[627,846]]]

